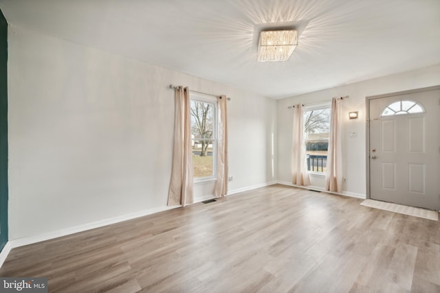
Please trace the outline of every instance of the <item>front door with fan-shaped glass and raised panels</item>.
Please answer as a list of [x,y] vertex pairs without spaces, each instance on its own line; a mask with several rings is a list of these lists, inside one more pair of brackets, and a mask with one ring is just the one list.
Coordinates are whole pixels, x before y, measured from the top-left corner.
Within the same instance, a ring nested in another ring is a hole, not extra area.
[[440,89],[370,99],[370,198],[440,209]]

